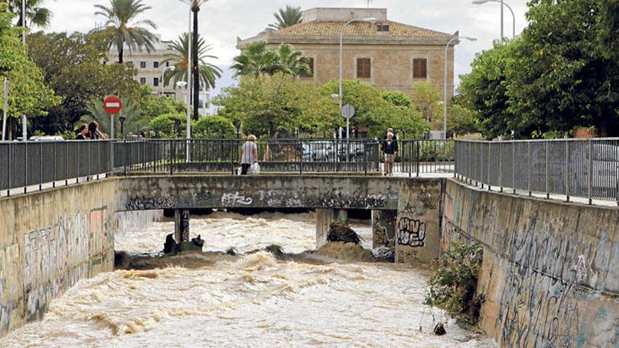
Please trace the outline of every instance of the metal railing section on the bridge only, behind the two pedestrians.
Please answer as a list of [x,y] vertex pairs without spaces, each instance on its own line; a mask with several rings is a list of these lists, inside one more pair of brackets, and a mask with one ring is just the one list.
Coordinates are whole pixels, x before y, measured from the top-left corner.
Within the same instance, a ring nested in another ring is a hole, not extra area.
[[[165,139],[115,143],[115,169],[124,173],[202,172],[238,174],[244,139]],[[259,139],[261,173],[383,172],[382,141],[342,139]],[[398,141],[394,172],[452,172],[452,141]]]

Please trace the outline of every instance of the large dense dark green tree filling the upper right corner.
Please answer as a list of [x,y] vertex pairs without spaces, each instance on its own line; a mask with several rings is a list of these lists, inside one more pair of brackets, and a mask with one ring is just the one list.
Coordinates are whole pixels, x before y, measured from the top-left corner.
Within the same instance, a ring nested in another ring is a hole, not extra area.
[[619,134],[616,0],[534,0],[521,37],[495,46],[461,77],[486,138],[566,134],[576,127]]

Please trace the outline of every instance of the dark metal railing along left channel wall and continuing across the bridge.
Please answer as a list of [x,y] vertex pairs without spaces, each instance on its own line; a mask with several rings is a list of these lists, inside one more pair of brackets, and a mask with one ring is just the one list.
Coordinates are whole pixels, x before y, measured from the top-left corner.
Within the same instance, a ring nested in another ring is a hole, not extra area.
[[[244,139],[0,142],[0,193],[24,192],[117,174],[238,174]],[[263,174],[383,172],[382,141],[372,139],[260,139]],[[419,176],[454,169],[453,141],[398,141],[393,172]],[[32,186],[35,186],[34,188]]]

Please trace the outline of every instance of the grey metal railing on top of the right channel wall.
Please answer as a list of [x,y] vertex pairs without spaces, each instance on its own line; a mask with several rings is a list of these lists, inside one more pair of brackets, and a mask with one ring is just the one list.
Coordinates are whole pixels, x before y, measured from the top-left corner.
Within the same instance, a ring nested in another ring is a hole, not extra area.
[[619,202],[619,139],[456,141],[455,176],[471,184]]

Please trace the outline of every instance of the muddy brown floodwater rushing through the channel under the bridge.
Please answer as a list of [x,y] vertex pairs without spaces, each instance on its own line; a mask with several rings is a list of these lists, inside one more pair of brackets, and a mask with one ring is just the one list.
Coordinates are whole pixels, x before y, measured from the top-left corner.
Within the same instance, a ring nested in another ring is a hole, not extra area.
[[[371,243],[370,226],[353,228]],[[156,252],[173,230],[158,223],[117,236],[116,248]],[[494,347],[423,304],[428,271],[369,262],[357,245],[304,252],[312,214],[215,213],[192,218],[191,231],[208,252],[80,281],[0,347]],[[250,252],[272,244],[285,253]],[[430,334],[438,321],[447,335]]]

